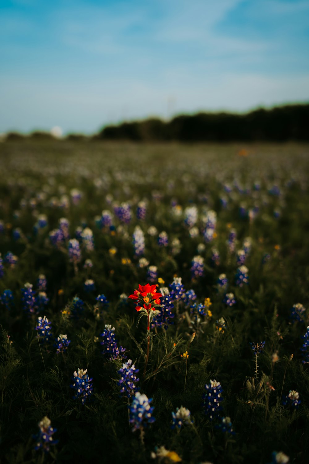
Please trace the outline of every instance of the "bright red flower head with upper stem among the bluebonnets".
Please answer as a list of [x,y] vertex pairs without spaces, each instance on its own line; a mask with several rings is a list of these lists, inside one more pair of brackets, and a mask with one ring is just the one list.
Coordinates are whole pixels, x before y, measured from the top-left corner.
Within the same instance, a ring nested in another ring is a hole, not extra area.
[[161,296],[162,294],[157,292],[156,284],[139,285],[139,290],[134,290],[134,293],[128,296],[128,298],[135,300],[136,310],[143,311],[145,316],[148,316],[148,331],[150,322],[156,313],[159,312],[156,308],[161,307]]

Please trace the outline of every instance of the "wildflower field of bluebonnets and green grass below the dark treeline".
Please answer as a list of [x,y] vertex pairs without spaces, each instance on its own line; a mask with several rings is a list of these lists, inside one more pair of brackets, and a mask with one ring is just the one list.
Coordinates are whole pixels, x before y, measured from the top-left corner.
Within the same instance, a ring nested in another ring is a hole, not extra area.
[[1,462],[308,463],[308,168],[1,143]]

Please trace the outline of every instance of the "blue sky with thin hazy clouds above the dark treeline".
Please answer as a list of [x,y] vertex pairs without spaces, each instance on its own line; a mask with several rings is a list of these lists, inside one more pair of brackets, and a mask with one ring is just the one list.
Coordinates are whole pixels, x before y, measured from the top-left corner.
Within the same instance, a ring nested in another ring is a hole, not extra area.
[[0,132],[309,101],[308,0],[0,0]]

